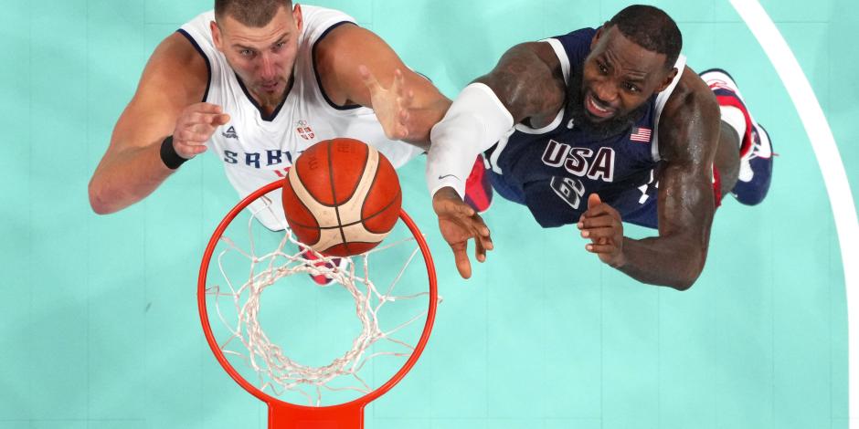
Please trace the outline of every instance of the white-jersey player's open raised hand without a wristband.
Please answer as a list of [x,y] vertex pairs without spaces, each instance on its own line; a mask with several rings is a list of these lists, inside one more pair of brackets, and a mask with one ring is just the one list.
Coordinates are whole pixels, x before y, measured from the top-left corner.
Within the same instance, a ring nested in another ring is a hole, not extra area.
[[366,66],[360,66],[358,72],[366,89],[370,91],[370,102],[376,112],[376,119],[382,124],[385,136],[390,140],[403,140],[408,137],[408,110],[414,103],[415,93],[406,90],[403,72],[394,70],[394,81],[390,88],[382,87]]

